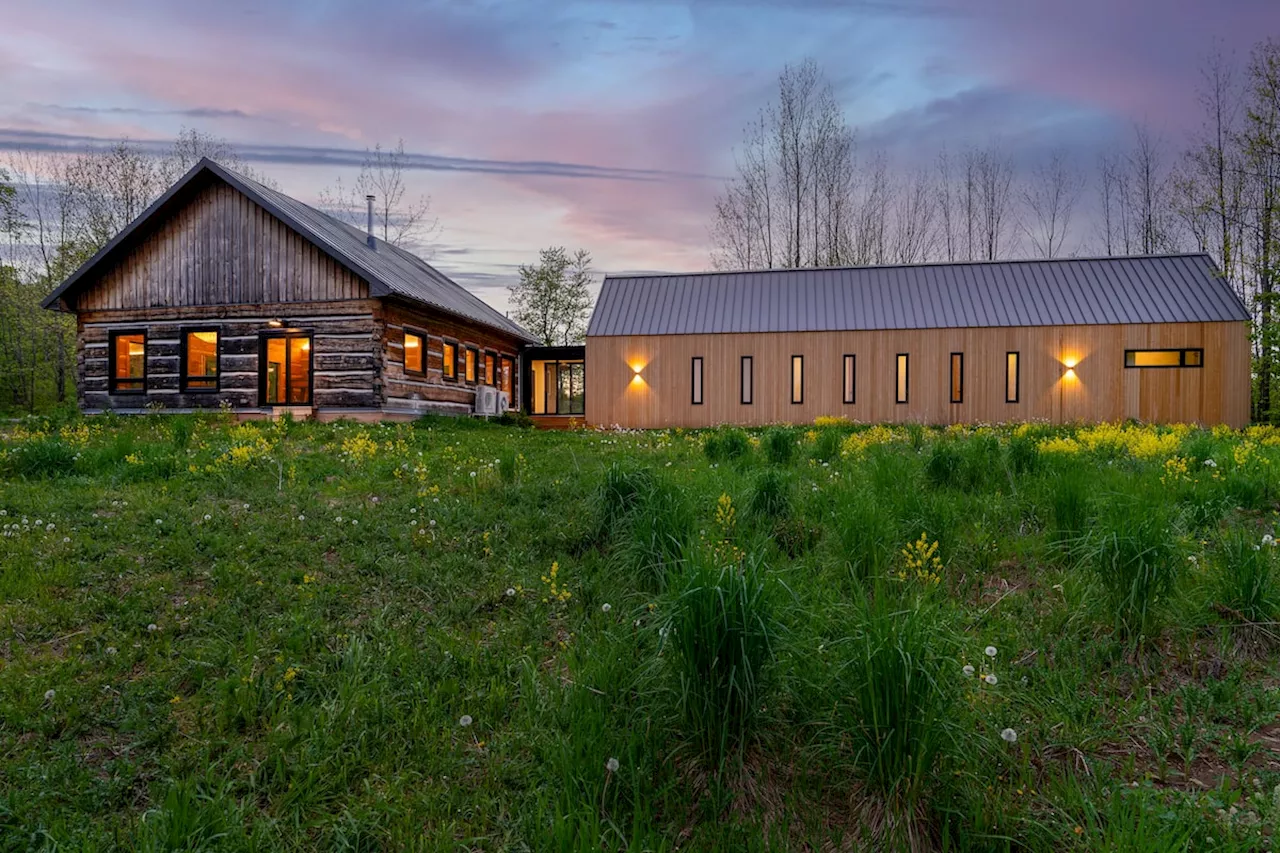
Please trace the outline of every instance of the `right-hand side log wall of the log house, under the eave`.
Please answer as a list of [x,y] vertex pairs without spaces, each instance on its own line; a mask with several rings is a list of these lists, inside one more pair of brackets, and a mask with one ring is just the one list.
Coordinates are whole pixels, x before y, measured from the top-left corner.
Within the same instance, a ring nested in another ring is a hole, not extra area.
[[[383,405],[394,411],[471,411],[475,406],[475,386],[468,386],[458,371],[457,382],[447,382],[443,374],[444,338],[460,347],[479,350],[476,361],[476,384],[484,371],[484,353],[512,359],[512,384],[516,396],[513,409],[518,407],[520,352],[521,343],[495,329],[456,320],[445,315],[429,314],[422,309],[387,302],[384,311],[385,336],[383,338]],[[413,332],[424,332],[426,343],[426,375],[406,374],[404,371],[404,327]]]

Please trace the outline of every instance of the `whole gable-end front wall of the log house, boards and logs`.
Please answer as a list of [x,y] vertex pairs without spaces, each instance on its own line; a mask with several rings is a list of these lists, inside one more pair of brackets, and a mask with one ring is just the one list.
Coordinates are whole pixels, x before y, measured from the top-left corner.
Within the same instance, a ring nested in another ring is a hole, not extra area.
[[[311,330],[314,405],[380,405],[380,302],[369,286],[233,187],[215,181],[86,283],[78,313],[78,393],[84,409],[257,407],[257,333],[283,318]],[[179,329],[212,325],[220,391],[179,392]],[[147,393],[108,393],[108,339],[147,330]]]

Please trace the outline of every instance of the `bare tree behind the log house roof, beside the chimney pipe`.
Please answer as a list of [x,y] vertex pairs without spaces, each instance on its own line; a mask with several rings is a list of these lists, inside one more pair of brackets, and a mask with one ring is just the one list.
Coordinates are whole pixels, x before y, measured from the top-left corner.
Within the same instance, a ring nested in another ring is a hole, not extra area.
[[439,219],[431,215],[429,196],[410,196],[406,170],[404,140],[394,149],[375,145],[365,152],[365,163],[352,184],[342,178],[320,192],[320,206],[362,228],[366,219],[365,196],[374,196],[374,228],[393,246],[429,250],[439,234]]

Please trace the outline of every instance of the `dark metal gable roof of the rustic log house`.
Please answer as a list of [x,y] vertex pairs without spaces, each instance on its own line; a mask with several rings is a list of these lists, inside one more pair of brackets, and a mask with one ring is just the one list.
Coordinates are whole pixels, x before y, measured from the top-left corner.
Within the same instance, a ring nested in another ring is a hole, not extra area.
[[99,250],[93,257],[84,261],[78,270],[45,297],[42,305],[52,307],[60,298],[74,292],[78,286],[92,280],[91,273],[100,265],[110,263],[143,236],[147,222],[183,204],[186,190],[204,186],[201,182],[209,181],[211,177],[229,183],[302,234],[316,248],[367,280],[371,296],[398,296],[466,320],[483,323],[522,341],[536,341],[518,324],[503,316],[497,309],[417,255],[376,238],[376,248],[370,248],[366,242],[366,232],[305,205],[278,190],[271,190],[232,172],[207,158],[192,167],[124,231]]

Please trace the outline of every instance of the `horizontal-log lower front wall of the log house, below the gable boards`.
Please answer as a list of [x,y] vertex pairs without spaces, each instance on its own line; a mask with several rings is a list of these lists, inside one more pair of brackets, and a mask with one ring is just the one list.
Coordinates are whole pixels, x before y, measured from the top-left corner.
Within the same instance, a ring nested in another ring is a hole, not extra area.
[[[381,400],[379,375],[383,342],[381,304],[348,302],[234,305],[216,307],[152,309],[146,311],[86,311],[78,316],[77,364],[79,403],[86,410],[236,409],[259,407],[259,336],[274,332],[268,320],[285,320],[289,329],[312,336],[312,405],[374,409]],[[219,337],[219,389],[183,393],[180,388],[180,330],[216,328]],[[145,329],[147,333],[147,392],[109,392],[108,347],[110,333]]]

